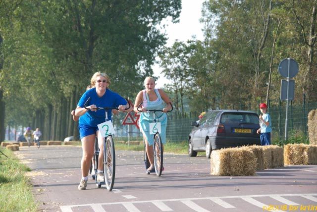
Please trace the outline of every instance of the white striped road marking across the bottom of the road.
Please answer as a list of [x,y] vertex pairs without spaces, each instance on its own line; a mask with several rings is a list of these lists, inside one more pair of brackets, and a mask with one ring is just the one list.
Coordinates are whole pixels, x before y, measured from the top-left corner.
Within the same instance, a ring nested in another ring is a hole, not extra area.
[[[191,208],[194,211],[197,212],[208,212],[208,210],[202,208],[198,204],[194,203],[193,201],[195,200],[211,200],[217,205],[230,209],[230,208],[235,208],[234,206],[226,203],[224,200],[225,199],[241,199],[244,200],[252,205],[255,205],[257,207],[260,207],[262,210],[264,207],[268,208],[267,205],[264,203],[261,203],[260,201],[254,199],[254,198],[262,198],[262,197],[269,197],[273,198],[281,203],[284,203],[285,205],[299,205],[298,203],[294,203],[292,201],[287,200],[284,197],[303,197],[308,200],[317,202],[317,193],[314,194],[265,194],[265,195],[243,195],[243,196],[222,196],[222,197],[201,197],[201,198],[184,198],[184,199],[165,199],[165,200],[146,200],[146,201],[130,201],[130,202],[113,202],[113,203],[99,203],[99,204],[84,204],[84,205],[72,205],[72,206],[60,206],[61,212],[73,212],[72,208],[79,208],[80,207],[91,207],[94,212],[105,212],[105,209],[103,206],[110,206],[110,205],[123,205],[127,211],[129,212],[140,212],[139,209],[135,206],[137,203],[148,203],[148,204],[154,204],[160,211],[173,211],[171,208],[169,208],[167,205],[165,205],[166,202],[182,202],[185,204],[187,207]],[[136,198],[131,195],[125,195],[123,196],[125,198]],[[78,209],[76,209],[78,210]],[[274,209],[274,212],[284,212],[284,211],[277,211]]]

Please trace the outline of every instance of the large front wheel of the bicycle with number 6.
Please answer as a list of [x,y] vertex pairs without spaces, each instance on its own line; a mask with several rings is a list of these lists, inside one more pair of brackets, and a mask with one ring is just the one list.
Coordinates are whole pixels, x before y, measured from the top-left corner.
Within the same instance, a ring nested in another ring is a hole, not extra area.
[[153,153],[155,172],[160,176],[163,169],[163,147],[159,133],[154,136]]

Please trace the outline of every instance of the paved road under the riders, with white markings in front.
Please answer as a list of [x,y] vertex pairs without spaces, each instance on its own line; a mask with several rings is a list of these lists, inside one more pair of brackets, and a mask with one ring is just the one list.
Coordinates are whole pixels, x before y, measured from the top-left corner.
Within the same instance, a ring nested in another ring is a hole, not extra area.
[[117,151],[114,189],[80,182],[81,147],[20,147],[43,212],[317,211],[317,165],[258,171],[256,176],[210,175],[205,157],[164,154],[162,176],[147,175],[143,152]]

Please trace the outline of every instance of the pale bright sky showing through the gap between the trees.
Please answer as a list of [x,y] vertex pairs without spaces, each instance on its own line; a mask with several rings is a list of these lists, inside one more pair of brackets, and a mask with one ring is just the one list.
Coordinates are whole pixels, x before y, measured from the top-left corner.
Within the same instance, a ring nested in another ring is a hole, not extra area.
[[[161,24],[166,24],[165,29],[167,34],[167,44],[165,46],[171,47],[175,40],[186,42],[196,36],[197,40],[203,40],[203,24],[199,22],[201,18],[201,10],[205,0],[182,0],[182,10],[179,16],[179,22],[173,24],[171,18],[164,19]],[[159,77],[156,81],[156,88],[163,88],[164,83],[168,80],[161,75],[161,68],[159,64],[152,66],[154,76]]]

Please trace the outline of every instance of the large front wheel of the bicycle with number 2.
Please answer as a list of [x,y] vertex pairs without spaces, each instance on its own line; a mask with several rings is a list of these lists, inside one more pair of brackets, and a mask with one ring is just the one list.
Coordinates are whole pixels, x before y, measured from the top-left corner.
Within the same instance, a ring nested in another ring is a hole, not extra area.
[[114,143],[111,136],[107,136],[104,143],[104,176],[106,189],[111,191],[115,177],[115,153]]

